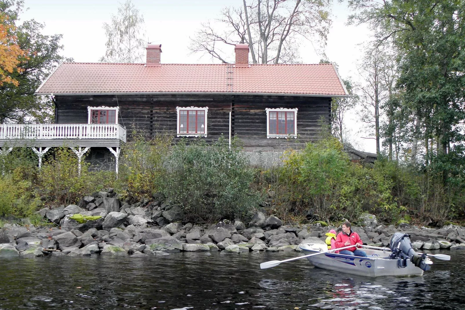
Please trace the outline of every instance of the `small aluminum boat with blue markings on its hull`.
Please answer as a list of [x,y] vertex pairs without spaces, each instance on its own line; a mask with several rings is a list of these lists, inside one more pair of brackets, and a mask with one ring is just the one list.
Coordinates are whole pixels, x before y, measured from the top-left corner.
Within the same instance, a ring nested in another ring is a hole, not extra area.
[[[307,254],[327,252],[326,244],[307,243],[300,245],[300,249]],[[410,260],[406,260],[403,267],[399,267],[398,259],[390,259],[390,251],[378,249],[363,249],[368,257],[350,256],[337,253],[324,253],[307,257],[315,267],[345,272],[357,276],[422,276],[423,270],[416,267]],[[426,258],[426,264],[431,260]]]

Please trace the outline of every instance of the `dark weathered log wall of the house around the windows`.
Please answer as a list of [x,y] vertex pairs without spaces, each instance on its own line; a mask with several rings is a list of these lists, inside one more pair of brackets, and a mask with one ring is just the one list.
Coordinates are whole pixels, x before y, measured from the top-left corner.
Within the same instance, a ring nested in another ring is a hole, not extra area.
[[[56,95],[58,123],[87,123],[87,107],[120,107],[118,122],[151,138],[158,133],[176,134],[176,107],[208,107],[207,142],[229,135],[229,111],[233,110],[233,135],[248,149],[301,147],[318,138],[321,121],[329,123],[331,98],[278,95],[160,94],[160,95]],[[298,138],[266,138],[265,108],[298,108]],[[178,140],[180,138],[176,138]]]

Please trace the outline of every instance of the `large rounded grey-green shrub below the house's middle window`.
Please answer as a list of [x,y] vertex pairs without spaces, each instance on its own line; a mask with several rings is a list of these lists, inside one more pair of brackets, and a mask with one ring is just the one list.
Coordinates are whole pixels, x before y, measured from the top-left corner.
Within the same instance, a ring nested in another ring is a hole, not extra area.
[[164,193],[180,204],[185,221],[215,222],[244,216],[260,195],[250,188],[254,170],[238,147],[220,138],[211,146],[186,140],[173,147],[166,163]]

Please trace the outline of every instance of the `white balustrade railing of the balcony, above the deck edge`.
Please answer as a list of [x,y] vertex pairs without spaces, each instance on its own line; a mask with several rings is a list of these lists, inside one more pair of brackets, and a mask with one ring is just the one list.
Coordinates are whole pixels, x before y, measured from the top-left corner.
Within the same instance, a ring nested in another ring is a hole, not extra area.
[[126,142],[120,124],[1,124],[1,139],[118,139]]

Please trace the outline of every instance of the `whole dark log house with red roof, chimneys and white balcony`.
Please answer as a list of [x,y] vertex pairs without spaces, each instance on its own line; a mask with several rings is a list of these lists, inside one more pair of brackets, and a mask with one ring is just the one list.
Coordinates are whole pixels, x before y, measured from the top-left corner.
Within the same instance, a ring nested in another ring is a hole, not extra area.
[[164,64],[161,44],[146,51],[145,64],[60,64],[35,93],[52,96],[54,124],[0,125],[2,151],[27,145],[40,165],[66,143],[118,171],[133,129],[147,138],[237,136],[251,154],[299,148],[329,124],[332,98],[349,95],[332,64],[249,64],[246,44],[236,45],[234,64]]

